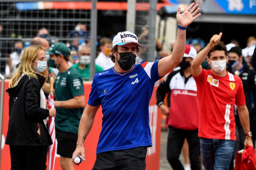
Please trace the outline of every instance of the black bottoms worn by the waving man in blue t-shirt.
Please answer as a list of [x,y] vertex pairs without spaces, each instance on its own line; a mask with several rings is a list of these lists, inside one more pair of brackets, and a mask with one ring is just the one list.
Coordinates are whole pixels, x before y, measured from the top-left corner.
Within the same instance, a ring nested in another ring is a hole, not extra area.
[[147,147],[101,152],[92,170],[145,170]]

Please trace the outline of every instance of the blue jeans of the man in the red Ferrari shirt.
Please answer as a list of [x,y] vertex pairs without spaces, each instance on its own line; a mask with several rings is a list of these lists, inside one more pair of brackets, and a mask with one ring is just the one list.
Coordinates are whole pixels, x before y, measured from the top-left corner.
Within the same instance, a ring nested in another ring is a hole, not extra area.
[[200,138],[205,170],[228,170],[234,151],[234,140]]

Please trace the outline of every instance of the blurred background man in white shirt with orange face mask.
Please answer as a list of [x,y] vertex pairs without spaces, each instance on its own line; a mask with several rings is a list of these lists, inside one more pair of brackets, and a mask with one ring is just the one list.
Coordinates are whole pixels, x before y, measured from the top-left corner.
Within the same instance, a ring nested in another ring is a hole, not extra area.
[[110,54],[110,49],[112,48],[112,40],[107,37],[100,39],[100,54],[95,60],[95,64],[100,66],[103,70],[107,70],[115,65],[108,55]]

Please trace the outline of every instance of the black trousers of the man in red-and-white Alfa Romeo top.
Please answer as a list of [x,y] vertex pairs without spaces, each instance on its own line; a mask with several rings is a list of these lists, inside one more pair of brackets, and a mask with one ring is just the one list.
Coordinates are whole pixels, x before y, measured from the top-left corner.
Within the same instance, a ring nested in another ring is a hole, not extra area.
[[200,170],[200,140],[198,137],[198,129],[183,130],[169,126],[167,160],[174,170],[184,170],[179,157],[185,138],[188,140],[191,169]]

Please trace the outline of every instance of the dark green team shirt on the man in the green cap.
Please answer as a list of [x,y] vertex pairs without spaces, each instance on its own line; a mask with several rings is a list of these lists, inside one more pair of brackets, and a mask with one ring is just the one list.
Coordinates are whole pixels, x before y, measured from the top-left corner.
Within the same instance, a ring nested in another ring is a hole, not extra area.
[[[54,82],[55,100],[64,101],[74,98],[75,96],[84,95],[83,80],[79,72],[70,67],[64,73],[58,73]],[[55,126],[56,128],[78,134],[78,126],[84,111],[80,108],[56,108]]]

